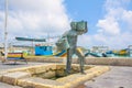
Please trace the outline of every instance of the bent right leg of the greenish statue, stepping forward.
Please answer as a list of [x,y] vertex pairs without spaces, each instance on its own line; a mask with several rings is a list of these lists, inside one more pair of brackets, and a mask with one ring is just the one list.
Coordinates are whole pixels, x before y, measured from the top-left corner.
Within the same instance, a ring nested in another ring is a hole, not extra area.
[[84,57],[84,55],[81,54],[81,52],[78,48],[76,50],[76,55],[78,56],[78,59],[79,59],[80,73],[85,74],[85,72],[84,72],[85,57]]

